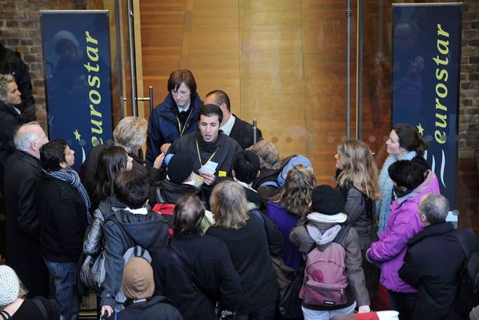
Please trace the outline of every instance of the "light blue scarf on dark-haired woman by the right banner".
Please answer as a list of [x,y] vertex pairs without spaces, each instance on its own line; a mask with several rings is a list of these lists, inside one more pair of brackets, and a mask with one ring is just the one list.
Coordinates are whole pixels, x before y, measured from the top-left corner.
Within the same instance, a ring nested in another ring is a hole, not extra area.
[[[415,151],[409,151],[401,160],[412,160],[416,156]],[[389,213],[391,212],[391,204],[393,203],[393,180],[389,178],[388,168],[398,157],[390,154],[384,161],[381,173],[379,173],[379,189],[381,189],[381,198],[376,201],[376,218],[378,218],[378,234],[384,231],[388,225]]]

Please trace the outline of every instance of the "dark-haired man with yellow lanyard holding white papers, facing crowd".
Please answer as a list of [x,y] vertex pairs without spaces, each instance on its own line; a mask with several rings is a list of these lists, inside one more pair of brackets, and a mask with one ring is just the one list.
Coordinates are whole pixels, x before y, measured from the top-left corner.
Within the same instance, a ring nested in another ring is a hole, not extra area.
[[183,135],[173,142],[169,154],[193,152],[193,171],[202,176],[204,185],[231,179],[235,156],[242,149],[238,142],[221,133],[223,112],[217,105],[204,105],[199,110],[199,132]]

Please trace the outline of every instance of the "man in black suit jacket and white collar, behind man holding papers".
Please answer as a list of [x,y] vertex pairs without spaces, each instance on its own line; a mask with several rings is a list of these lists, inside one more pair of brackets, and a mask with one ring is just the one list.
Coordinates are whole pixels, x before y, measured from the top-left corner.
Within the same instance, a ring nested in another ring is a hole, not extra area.
[[[247,149],[254,145],[254,128],[251,124],[231,113],[230,98],[221,90],[211,91],[204,99],[205,105],[217,105],[223,112],[223,121],[221,121],[221,130],[225,135],[235,139],[242,149]],[[256,128],[256,142],[262,140],[262,133]]]

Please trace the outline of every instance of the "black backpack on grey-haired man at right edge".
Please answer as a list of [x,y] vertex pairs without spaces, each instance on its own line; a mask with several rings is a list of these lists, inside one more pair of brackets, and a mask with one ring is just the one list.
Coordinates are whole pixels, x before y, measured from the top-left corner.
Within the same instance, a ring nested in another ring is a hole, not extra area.
[[[466,236],[468,234],[468,236]],[[455,232],[466,259],[459,274],[459,286],[456,294],[456,311],[469,319],[469,312],[479,305],[479,244],[471,229]],[[475,239],[473,243],[466,239]]]

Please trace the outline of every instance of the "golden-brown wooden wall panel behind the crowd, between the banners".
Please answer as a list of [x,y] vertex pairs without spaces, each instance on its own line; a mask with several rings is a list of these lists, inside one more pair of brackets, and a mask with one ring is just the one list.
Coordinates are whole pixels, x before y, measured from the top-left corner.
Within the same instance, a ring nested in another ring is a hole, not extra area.
[[[332,183],[336,145],[346,135],[344,1],[142,0],[140,6],[143,81],[155,86],[156,103],[171,71],[191,69],[202,98],[226,91],[232,111],[257,119],[283,156],[305,154],[318,182]],[[354,60],[354,16],[351,26]],[[351,89],[355,106],[354,78]]]

